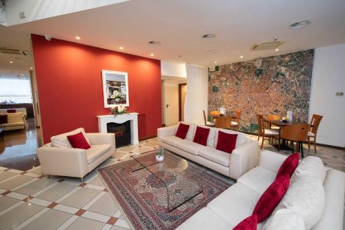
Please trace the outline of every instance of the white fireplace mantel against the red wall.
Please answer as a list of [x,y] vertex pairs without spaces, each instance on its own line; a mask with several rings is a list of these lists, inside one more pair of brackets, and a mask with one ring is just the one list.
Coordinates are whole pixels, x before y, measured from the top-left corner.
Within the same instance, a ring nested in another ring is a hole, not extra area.
[[99,133],[108,133],[107,124],[114,122],[122,124],[130,121],[130,144],[139,144],[138,136],[138,114],[139,113],[127,113],[114,117],[114,115],[99,115],[98,118],[98,131]]

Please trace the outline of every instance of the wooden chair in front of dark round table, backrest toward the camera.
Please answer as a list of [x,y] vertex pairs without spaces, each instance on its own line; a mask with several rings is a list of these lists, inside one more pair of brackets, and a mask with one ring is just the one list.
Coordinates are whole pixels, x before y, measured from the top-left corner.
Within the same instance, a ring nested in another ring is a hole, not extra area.
[[[293,124],[290,126],[284,126],[280,128],[279,138],[290,140],[292,142],[297,142],[298,152],[300,150],[302,153],[302,157],[304,157],[302,143],[306,140],[310,126],[310,124]],[[292,151],[294,151],[294,148],[292,149]]]

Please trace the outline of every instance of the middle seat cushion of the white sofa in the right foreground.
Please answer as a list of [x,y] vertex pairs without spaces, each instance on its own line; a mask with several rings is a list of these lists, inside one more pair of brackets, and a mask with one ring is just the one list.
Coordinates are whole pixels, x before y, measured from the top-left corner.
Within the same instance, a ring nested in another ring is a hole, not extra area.
[[[236,183],[207,204],[220,218],[226,220],[230,225],[236,226],[252,215],[255,205],[260,198],[260,193]],[[262,224],[258,224],[258,229]]]

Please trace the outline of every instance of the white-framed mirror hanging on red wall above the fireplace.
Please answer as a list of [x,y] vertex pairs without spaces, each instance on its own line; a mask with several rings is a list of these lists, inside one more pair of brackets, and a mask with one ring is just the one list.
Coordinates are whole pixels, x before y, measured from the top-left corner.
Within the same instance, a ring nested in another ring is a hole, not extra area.
[[104,107],[129,106],[128,73],[102,70]]

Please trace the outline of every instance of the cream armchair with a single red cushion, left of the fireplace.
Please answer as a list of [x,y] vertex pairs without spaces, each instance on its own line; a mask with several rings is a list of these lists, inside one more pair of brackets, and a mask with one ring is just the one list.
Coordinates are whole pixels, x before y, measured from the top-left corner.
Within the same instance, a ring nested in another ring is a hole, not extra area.
[[[83,133],[91,148],[72,148],[67,136]],[[81,178],[95,169],[115,153],[113,133],[85,133],[83,128],[51,137],[52,142],[37,149],[42,172],[46,175],[60,175]]]

